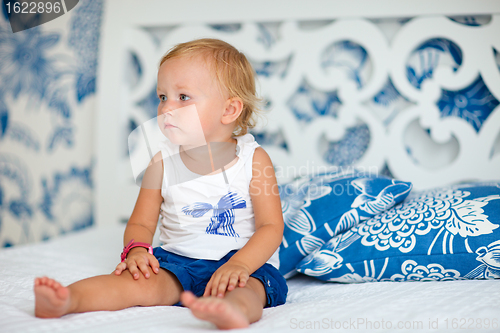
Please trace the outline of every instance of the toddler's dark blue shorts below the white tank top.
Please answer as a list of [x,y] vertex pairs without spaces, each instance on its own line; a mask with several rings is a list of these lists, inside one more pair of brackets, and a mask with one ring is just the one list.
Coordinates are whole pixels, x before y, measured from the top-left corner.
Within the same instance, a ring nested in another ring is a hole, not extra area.
[[[158,259],[160,267],[174,274],[184,290],[189,290],[198,297],[203,296],[205,287],[212,274],[235,253],[236,250],[231,251],[221,260],[204,260],[180,256],[165,251],[161,247],[153,250],[153,254]],[[285,278],[283,278],[273,265],[266,263],[250,276],[256,278],[264,285],[267,297],[266,307],[285,304],[288,287]],[[179,304],[177,303],[176,305]]]

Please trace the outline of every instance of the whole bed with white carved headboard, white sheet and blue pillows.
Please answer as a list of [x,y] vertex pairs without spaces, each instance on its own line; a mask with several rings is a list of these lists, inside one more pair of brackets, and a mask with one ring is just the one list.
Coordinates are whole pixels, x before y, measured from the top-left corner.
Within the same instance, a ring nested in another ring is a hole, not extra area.
[[96,225],[0,252],[0,330],[214,329],[179,307],[42,320],[32,284],[116,266],[120,222],[139,190],[134,167],[157,145],[134,129],[155,115],[158,59],[177,42],[216,37],[256,68],[272,111],[254,135],[275,164],[287,222],[287,303],[247,331],[498,332],[499,4],[191,1],[197,10],[185,11],[184,3],[106,2]]

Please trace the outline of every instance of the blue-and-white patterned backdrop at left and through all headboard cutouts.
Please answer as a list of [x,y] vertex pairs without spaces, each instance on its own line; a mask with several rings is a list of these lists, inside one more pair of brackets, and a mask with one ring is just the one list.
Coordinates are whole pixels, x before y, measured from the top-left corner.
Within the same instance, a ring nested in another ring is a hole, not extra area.
[[[48,239],[92,224],[93,112],[102,10],[103,0],[80,1],[68,14],[16,34],[11,32],[5,12],[0,15],[0,246]],[[453,18],[468,26],[487,24],[489,19]],[[407,22],[373,21],[388,40]],[[323,23],[300,24],[314,29]],[[258,27],[258,42],[272,48],[279,39],[280,22],[260,23]],[[210,28],[230,34],[241,25]],[[498,50],[494,52],[500,69],[500,55]],[[286,78],[292,61],[252,63],[258,77]],[[349,40],[332,44],[320,61],[325,71],[335,68],[345,72],[358,88],[366,85],[372,70],[366,50]],[[407,78],[420,88],[438,66],[456,70],[461,63],[462,53],[456,45],[446,39],[431,39],[409,57]],[[131,64],[130,72],[140,76],[140,64]],[[290,94],[287,108],[306,126],[317,118],[335,118],[341,103],[337,91],[320,91],[304,79]],[[268,104],[272,109],[272,102]],[[480,76],[459,91],[443,91],[437,102],[442,117],[465,119],[476,131],[498,104]],[[366,101],[386,127],[411,105],[390,78]],[[139,106],[154,116],[154,93]],[[131,129],[135,125],[131,118]],[[253,134],[262,145],[290,147],[279,131],[264,129]],[[331,165],[355,164],[366,153],[370,140],[369,127],[357,123],[340,140],[321,143],[323,158]],[[406,149],[416,163],[430,163],[412,142]],[[382,173],[392,176],[387,166]]]

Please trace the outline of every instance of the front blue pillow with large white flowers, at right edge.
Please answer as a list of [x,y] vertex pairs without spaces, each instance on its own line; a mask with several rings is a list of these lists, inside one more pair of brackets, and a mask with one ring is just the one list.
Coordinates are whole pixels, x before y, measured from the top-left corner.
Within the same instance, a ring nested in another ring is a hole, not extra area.
[[500,182],[412,194],[298,265],[325,281],[500,278]]

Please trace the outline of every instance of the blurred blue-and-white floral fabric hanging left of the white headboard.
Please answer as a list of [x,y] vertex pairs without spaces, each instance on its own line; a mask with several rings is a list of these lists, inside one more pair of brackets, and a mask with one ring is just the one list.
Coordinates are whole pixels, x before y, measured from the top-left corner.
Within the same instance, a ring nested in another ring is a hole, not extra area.
[[12,33],[0,13],[0,247],[93,223],[102,1]]

